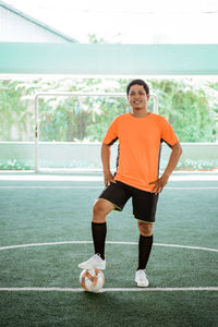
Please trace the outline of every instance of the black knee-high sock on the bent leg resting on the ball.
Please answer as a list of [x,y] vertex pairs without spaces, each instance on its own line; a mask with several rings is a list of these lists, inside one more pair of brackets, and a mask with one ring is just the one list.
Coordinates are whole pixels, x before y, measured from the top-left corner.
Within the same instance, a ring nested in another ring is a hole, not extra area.
[[95,253],[100,254],[100,257],[105,259],[105,242],[107,234],[106,222],[92,222],[92,231]]

